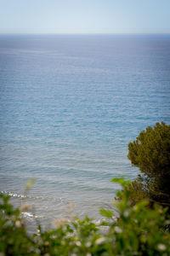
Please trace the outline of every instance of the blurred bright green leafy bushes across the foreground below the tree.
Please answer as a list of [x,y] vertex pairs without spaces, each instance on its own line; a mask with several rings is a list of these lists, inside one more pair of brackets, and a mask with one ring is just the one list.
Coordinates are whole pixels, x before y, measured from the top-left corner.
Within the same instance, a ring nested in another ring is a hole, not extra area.
[[101,210],[107,225],[94,224],[88,217],[56,221],[54,230],[41,230],[28,236],[20,211],[1,195],[0,204],[0,255],[170,255],[170,233],[163,229],[170,223],[165,218],[167,209],[155,205],[147,208],[148,201],[139,201],[130,207],[131,192],[129,182],[114,179],[121,183],[123,190],[118,192],[122,201],[116,201],[119,218],[113,221],[114,212]]

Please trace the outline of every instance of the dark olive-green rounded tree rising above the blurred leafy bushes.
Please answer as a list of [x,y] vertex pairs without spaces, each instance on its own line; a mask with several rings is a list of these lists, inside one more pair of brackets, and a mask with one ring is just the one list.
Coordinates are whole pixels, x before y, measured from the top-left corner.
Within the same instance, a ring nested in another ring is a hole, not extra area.
[[130,187],[133,200],[148,198],[170,206],[170,125],[156,123],[141,131],[128,144],[128,158],[142,172]]

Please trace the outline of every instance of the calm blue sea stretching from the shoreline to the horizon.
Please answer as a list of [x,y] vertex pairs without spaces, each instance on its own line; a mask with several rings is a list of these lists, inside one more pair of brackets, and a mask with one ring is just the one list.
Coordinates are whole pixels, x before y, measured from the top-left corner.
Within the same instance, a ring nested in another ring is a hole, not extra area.
[[0,86],[0,190],[31,203],[31,223],[72,201],[99,220],[111,178],[139,173],[127,144],[170,124],[170,35],[1,35]]

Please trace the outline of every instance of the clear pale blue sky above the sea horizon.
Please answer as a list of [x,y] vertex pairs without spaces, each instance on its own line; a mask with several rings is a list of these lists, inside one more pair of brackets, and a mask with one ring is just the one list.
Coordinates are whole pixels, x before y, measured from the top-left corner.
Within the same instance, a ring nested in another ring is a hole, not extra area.
[[0,0],[0,33],[170,33],[170,0]]

